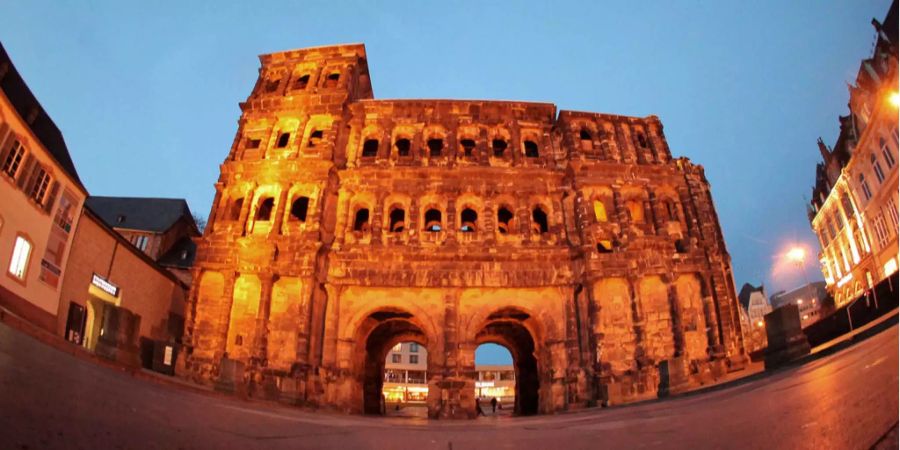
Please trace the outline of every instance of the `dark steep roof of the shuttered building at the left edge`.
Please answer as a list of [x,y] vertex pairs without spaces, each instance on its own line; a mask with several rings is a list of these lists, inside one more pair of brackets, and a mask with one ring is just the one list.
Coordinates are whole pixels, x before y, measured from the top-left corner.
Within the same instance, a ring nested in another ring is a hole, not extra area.
[[[6,73],[3,73],[4,70]],[[84,188],[84,184],[81,183],[78,172],[75,170],[75,163],[69,156],[69,148],[66,147],[62,132],[31,93],[31,89],[28,89],[28,85],[19,75],[19,71],[16,70],[16,66],[12,63],[2,43],[0,43],[0,74],[2,74],[0,75],[0,90],[3,90],[19,117],[31,128],[31,132],[41,141],[59,166],[86,192],[87,189]],[[29,123],[28,119],[32,116],[34,119]]]

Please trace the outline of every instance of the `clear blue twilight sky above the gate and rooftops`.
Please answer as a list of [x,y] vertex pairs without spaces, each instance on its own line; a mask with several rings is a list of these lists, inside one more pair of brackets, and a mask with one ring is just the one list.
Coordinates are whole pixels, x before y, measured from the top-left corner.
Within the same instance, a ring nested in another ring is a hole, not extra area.
[[656,114],[706,168],[737,286],[771,294],[803,280],[773,269],[785,246],[817,251],[816,138],[833,144],[889,4],[22,0],[0,40],[92,194],[184,197],[202,216],[261,53],[363,42],[376,98]]

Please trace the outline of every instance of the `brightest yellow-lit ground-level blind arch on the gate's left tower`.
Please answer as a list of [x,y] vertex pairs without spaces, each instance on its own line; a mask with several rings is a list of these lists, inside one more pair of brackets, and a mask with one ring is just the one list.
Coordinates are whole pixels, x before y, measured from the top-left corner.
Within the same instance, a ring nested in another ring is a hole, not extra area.
[[234,282],[228,340],[225,343],[225,351],[231,359],[246,361],[253,355],[261,288],[259,277],[253,274],[241,274]]

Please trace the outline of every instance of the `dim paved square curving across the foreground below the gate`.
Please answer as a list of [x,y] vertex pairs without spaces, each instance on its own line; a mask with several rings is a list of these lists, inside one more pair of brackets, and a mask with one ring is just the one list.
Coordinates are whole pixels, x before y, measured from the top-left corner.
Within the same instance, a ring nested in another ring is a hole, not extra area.
[[896,432],[888,431],[898,416],[898,333],[893,326],[802,366],[666,401],[429,422],[315,413],[152,383],[0,324],[0,411],[2,449],[821,450],[865,449],[885,437],[896,448]]

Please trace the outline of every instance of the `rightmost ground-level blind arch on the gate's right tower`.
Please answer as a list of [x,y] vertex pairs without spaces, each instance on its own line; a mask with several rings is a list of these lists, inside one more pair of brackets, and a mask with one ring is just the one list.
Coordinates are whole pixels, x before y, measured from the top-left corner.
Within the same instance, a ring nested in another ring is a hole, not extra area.
[[684,332],[684,352],[690,360],[706,360],[709,341],[700,279],[695,274],[680,275],[675,280],[675,293]]

